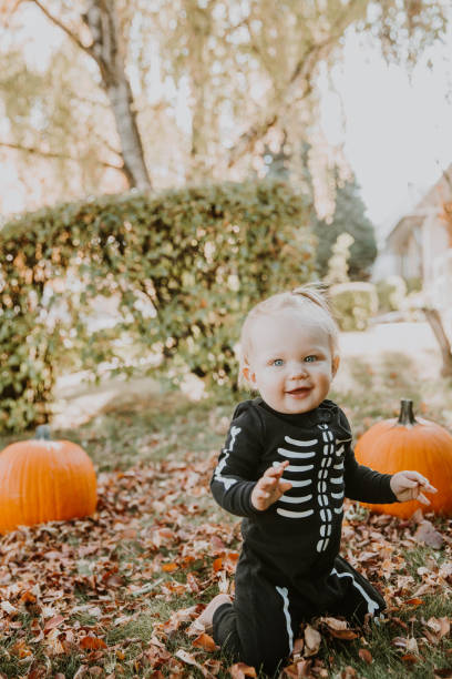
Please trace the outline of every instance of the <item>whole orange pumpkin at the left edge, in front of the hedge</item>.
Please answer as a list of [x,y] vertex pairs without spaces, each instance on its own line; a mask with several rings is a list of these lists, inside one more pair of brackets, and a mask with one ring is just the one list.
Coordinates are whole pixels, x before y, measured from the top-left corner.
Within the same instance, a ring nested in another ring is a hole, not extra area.
[[95,509],[95,472],[83,448],[70,440],[50,440],[45,425],[37,435],[0,453],[0,533],[88,516]]

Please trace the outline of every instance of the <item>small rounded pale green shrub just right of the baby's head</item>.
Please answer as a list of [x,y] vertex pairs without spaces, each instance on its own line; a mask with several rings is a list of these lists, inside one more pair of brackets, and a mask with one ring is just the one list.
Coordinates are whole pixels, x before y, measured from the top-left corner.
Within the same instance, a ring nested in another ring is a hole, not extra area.
[[342,331],[363,331],[378,311],[378,295],[372,283],[340,283],[329,288],[335,317]]

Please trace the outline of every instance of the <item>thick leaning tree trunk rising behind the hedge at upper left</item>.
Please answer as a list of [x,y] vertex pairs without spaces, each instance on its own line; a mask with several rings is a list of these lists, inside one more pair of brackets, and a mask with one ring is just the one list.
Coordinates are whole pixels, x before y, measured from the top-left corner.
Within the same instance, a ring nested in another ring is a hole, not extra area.
[[114,0],[88,0],[84,20],[93,40],[89,51],[100,68],[102,82],[116,121],[124,174],[131,188],[151,189],[151,179],[144,162],[143,144],[136,124],[132,88],[125,73],[121,51]]

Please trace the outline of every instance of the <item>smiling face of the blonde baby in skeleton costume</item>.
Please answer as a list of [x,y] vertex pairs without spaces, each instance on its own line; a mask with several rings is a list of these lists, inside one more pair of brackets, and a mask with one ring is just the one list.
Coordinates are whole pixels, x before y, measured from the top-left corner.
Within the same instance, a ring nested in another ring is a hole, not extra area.
[[305,314],[280,311],[256,318],[244,375],[275,411],[307,413],[328,395],[339,359],[330,338]]

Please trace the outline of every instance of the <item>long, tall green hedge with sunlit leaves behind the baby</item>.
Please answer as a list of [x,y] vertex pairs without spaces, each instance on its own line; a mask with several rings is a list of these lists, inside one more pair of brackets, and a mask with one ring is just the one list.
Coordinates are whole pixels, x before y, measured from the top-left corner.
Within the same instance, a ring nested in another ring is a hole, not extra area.
[[[63,366],[160,362],[173,381],[191,371],[235,384],[246,311],[312,275],[308,214],[288,184],[250,182],[102,196],[7,223],[0,429],[47,419]],[[95,326],[112,303],[115,323]]]

